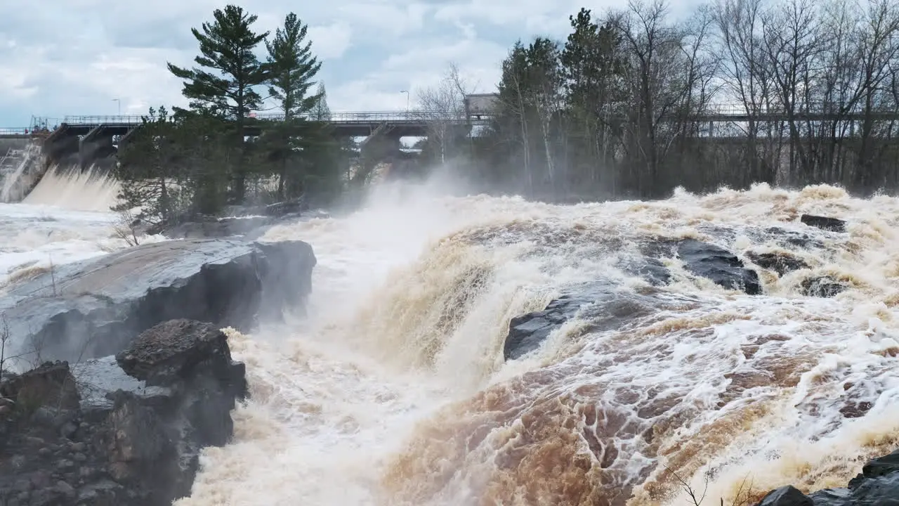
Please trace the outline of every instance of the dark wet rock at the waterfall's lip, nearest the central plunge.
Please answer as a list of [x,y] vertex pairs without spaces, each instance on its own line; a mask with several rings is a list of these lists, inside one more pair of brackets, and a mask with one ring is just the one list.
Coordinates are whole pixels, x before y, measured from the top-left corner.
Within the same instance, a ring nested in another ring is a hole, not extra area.
[[572,294],[548,303],[543,311],[512,318],[503,346],[506,360],[514,360],[539,348],[553,330],[574,316],[583,315],[590,321],[584,331],[602,331],[623,327],[654,311],[646,295],[625,295],[610,284],[596,283],[571,290]]

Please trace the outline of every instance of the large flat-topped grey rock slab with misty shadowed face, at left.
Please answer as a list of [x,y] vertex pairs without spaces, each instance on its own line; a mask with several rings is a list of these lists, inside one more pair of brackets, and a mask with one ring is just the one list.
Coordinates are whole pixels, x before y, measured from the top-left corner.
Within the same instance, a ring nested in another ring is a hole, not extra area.
[[250,330],[302,306],[316,258],[302,241],[186,239],[60,266],[11,287],[0,311],[17,353],[79,361],[118,353],[161,321]]

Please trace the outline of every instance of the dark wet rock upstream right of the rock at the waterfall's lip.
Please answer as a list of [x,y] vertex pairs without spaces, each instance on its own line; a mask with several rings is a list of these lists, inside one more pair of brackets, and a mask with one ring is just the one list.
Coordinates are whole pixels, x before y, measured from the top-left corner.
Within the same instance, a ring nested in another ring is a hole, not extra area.
[[745,268],[743,260],[725,248],[685,239],[678,245],[677,254],[684,267],[696,276],[706,277],[716,285],[742,290],[746,294],[761,294],[759,275]]

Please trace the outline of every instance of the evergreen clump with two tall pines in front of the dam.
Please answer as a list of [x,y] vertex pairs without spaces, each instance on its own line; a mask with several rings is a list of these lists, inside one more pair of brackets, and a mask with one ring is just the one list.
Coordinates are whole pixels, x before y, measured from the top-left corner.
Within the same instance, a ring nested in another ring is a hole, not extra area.
[[[332,135],[321,63],[307,25],[288,14],[270,37],[254,32],[257,16],[227,5],[192,29],[195,66],[169,70],[183,80],[187,109],[150,109],[143,126],[120,141],[117,210],[141,208],[149,223],[220,212],[228,204],[273,203],[302,196],[326,203],[350,170],[352,141]],[[256,56],[264,44],[266,58]],[[265,98],[279,121],[254,111]]]

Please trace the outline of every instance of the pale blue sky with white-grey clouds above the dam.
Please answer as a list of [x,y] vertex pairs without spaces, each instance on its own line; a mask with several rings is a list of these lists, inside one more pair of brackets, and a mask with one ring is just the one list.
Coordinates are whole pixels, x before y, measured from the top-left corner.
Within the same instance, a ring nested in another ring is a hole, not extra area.
[[[294,9],[324,62],[319,74],[334,111],[402,110],[401,90],[432,86],[456,62],[476,92],[494,91],[512,43],[564,38],[568,15],[625,0],[245,0],[259,31]],[[190,65],[191,26],[221,0],[0,2],[0,127],[31,116],[145,113],[183,104],[165,62]],[[115,99],[120,99],[116,101]]]

